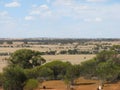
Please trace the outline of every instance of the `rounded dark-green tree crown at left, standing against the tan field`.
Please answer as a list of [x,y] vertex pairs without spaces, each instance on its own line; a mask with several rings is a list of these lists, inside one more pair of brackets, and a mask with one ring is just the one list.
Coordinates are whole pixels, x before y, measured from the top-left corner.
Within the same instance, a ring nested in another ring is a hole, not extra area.
[[19,65],[22,68],[33,68],[45,62],[39,52],[29,49],[17,50],[10,56],[10,65]]

